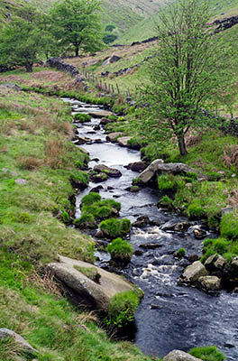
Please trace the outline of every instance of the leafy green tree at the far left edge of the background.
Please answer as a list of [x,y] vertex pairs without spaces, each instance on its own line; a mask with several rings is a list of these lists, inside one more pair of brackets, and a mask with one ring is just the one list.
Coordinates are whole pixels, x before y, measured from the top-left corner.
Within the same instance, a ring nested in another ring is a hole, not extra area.
[[44,57],[52,40],[42,27],[41,14],[32,6],[24,6],[7,23],[0,35],[0,63],[4,66],[23,65],[32,71],[35,61]]

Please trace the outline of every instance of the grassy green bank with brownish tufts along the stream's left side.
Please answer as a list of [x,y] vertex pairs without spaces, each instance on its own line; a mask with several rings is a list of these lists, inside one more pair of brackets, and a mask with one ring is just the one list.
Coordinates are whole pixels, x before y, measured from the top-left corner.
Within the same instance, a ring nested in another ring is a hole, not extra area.
[[[30,342],[39,361],[149,361],[133,344],[108,338],[94,314],[74,308],[41,273],[58,254],[94,259],[94,242],[65,226],[74,214],[73,180],[87,182],[71,122],[57,98],[0,87],[1,327]],[[31,357],[6,338],[0,358]]]

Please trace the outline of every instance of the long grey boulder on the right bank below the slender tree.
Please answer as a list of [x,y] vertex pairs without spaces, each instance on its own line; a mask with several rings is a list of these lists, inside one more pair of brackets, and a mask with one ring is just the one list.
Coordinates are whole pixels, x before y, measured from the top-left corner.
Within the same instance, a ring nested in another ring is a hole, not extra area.
[[195,170],[194,168],[188,167],[184,163],[164,163],[161,159],[156,159],[154,162],[151,162],[149,167],[147,167],[142,173],[136,178],[139,182],[147,183],[155,174],[161,172],[168,172],[171,174],[184,174],[188,172],[197,173],[199,180],[206,180],[206,176],[200,171]]

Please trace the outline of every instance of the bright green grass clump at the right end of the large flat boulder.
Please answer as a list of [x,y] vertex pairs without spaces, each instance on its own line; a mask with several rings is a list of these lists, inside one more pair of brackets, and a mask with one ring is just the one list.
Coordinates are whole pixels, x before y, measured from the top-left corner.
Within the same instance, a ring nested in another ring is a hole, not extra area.
[[139,304],[139,297],[133,291],[117,293],[109,301],[107,326],[123,328],[134,322],[134,312]]

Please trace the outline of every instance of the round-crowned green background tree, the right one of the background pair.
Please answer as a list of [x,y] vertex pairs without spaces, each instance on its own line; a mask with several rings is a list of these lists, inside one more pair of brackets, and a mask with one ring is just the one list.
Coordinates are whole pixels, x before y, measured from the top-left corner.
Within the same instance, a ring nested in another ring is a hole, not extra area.
[[102,48],[100,2],[97,0],[60,0],[51,9],[52,32],[59,46],[66,51],[73,49],[97,51]]

